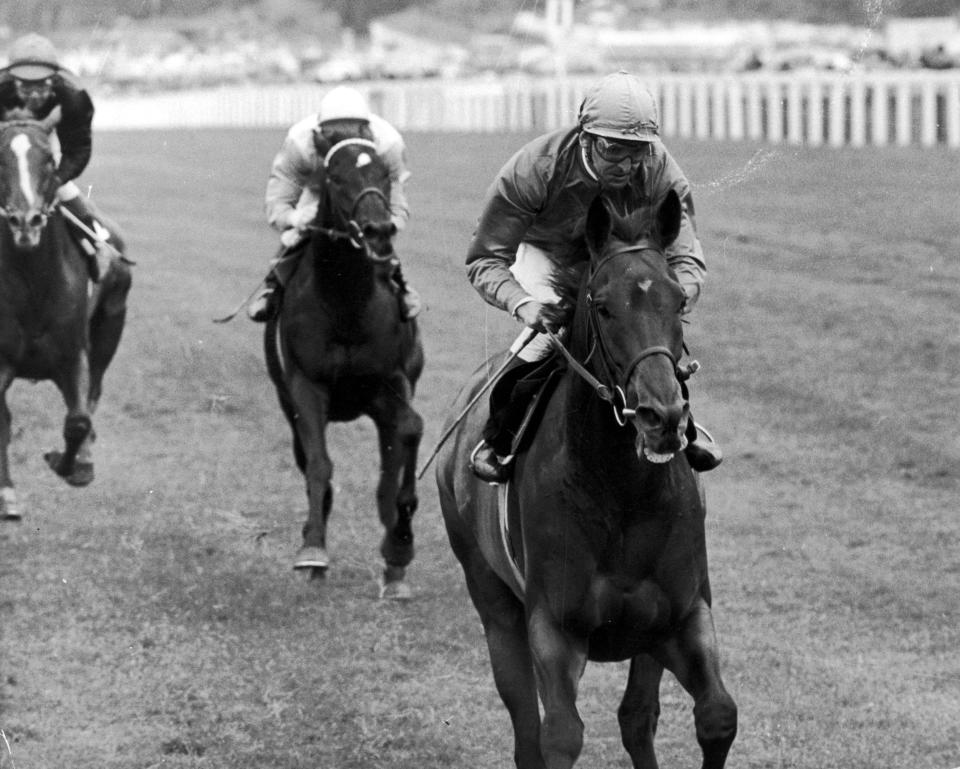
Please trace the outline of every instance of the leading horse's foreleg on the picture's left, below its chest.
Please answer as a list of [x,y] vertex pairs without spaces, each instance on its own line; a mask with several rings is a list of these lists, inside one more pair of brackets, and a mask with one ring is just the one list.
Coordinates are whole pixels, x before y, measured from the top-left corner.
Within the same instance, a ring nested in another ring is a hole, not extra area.
[[569,633],[544,610],[527,622],[537,689],[543,702],[540,750],[547,769],[569,769],[583,749],[577,691],[587,664],[587,642]]

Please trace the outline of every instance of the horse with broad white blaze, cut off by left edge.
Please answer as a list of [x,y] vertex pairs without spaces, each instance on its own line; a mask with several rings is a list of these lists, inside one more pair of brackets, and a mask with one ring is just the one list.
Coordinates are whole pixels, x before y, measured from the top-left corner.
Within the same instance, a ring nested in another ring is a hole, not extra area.
[[[63,451],[45,455],[67,483],[93,480],[92,416],[126,317],[130,270],[119,258],[92,283],[87,259],[55,198],[50,125],[0,122],[0,518],[19,518],[10,465],[14,379],[51,380],[67,407]],[[118,253],[123,242],[110,224]]]

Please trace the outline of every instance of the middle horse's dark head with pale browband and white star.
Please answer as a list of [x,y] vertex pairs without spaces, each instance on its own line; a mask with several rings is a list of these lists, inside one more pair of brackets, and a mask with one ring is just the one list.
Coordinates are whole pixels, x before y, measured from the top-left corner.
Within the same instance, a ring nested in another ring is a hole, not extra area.
[[390,174],[376,145],[363,136],[318,134],[323,156],[324,224],[361,236],[373,254],[393,252]]

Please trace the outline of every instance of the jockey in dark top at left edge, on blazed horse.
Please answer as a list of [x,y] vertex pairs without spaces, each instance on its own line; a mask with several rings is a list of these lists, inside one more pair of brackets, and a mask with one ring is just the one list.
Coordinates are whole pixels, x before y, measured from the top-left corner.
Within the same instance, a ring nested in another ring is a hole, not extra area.
[[80,220],[87,230],[81,244],[91,277],[96,280],[99,277],[97,249],[109,233],[96,221],[73,181],[90,161],[93,102],[60,65],[53,43],[36,34],[18,38],[10,47],[9,63],[0,69],[0,119],[45,120],[57,108],[59,118],[54,116],[54,119],[59,164],[54,194],[60,206]]

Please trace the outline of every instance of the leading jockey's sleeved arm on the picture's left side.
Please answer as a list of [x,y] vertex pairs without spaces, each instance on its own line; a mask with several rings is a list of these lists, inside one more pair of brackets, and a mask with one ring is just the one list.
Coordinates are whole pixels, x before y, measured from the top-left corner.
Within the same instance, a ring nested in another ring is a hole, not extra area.
[[546,196],[546,181],[522,153],[500,171],[467,251],[467,277],[489,304],[515,314],[530,302],[510,266]]

